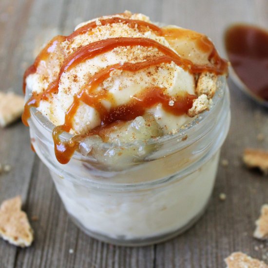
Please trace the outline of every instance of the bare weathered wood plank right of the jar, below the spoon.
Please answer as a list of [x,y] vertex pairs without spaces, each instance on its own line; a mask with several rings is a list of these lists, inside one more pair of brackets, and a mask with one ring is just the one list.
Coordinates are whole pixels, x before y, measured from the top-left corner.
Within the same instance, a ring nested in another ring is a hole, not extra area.
[[[232,125],[222,150],[222,159],[230,164],[219,167],[211,202],[201,220],[185,234],[157,245],[156,267],[224,267],[223,259],[233,251],[241,250],[260,259],[267,252],[267,245],[255,240],[252,233],[260,207],[267,202],[268,180],[258,172],[249,172],[241,161],[248,146],[268,148],[256,138],[259,132],[268,136],[267,111],[231,82],[230,88]],[[243,104],[237,107],[240,102]],[[225,202],[219,200],[221,192],[227,195]]]

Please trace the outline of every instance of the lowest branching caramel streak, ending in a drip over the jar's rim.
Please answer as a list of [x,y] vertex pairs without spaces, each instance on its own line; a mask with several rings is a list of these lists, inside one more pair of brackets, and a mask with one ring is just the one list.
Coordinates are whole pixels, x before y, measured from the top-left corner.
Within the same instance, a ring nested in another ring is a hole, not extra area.
[[57,160],[61,164],[69,162],[73,153],[79,147],[80,141],[84,135],[77,135],[69,142],[62,142],[59,135],[62,132],[69,132],[72,128],[72,120],[79,107],[79,102],[82,101],[85,104],[95,108],[101,119],[101,127],[90,131],[86,136],[98,134],[105,139],[103,129],[107,125],[118,121],[129,121],[137,116],[144,115],[146,109],[153,107],[157,103],[161,103],[164,110],[173,115],[185,114],[192,106],[192,101],[196,98],[195,95],[185,94],[174,98],[172,106],[169,105],[171,97],[165,95],[163,88],[151,87],[143,90],[141,94],[134,96],[127,104],[114,106],[107,111],[107,109],[101,104],[101,100],[112,100],[112,96],[109,93],[96,92],[96,87],[107,79],[113,70],[123,70],[129,72],[136,72],[148,67],[159,65],[161,63],[171,63],[174,61],[176,64],[180,63],[180,60],[176,60],[170,56],[160,56],[150,59],[144,62],[124,64],[114,64],[104,70],[96,73],[88,82],[88,85],[81,89],[81,92],[74,97],[74,101],[70,106],[68,112],[65,115],[65,123],[61,126],[57,126],[53,130],[53,139],[55,143],[55,154]]

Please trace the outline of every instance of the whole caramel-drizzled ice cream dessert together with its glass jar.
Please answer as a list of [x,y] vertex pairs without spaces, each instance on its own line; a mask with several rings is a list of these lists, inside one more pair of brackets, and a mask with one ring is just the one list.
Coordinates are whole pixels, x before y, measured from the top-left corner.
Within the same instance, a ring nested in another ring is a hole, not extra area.
[[44,46],[22,119],[80,228],[137,246],[200,217],[230,124],[227,71],[206,36],[128,11]]

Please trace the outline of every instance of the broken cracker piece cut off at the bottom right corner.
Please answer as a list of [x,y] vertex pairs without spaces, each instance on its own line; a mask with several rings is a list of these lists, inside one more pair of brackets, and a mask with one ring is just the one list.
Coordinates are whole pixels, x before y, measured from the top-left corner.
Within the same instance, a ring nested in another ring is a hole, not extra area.
[[233,252],[225,262],[227,268],[268,268],[263,261],[253,259],[242,252]]

